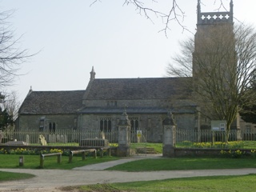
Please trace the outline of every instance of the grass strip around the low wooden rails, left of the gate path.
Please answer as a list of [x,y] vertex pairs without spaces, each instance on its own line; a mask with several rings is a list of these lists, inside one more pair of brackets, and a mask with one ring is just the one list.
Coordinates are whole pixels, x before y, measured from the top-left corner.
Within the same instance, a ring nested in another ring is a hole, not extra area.
[[[39,155],[23,155],[24,166],[19,166],[19,154],[0,154],[0,168],[24,168],[24,169],[37,169],[39,167]],[[58,164],[57,157],[47,157],[44,161],[44,169],[59,169],[70,170],[78,166],[86,166],[90,164],[108,162],[118,159],[117,157],[103,156],[103,158],[86,157],[85,161],[82,161],[80,155],[74,155],[73,161],[69,163],[68,156],[62,156],[62,162]]]

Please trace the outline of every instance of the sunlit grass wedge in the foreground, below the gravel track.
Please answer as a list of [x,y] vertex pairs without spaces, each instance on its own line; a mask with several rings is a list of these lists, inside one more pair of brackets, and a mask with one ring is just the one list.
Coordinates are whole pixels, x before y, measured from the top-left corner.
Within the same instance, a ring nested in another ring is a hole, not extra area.
[[174,178],[149,182],[122,182],[111,184],[96,184],[89,186],[63,187],[79,191],[146,191],[146,192],[216,192],[239,191],[253,192],[256,188],[256,174],[243,176],[214,176],[194,178]]

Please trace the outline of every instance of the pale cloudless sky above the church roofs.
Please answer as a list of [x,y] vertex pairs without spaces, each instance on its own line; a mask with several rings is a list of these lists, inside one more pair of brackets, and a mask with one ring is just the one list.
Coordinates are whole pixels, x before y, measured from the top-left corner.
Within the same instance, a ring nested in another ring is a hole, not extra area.
[[[216,0],[202,0],[202,12],[214,11]],[[5,90],[16,90],[21,102],[33,90],[85,90],[94,66],[96,78],[162,78],[178,52],[178,42],[193,34],[171,22],[171,30],[152,15],[138,14],[124,0],[0,0],[1,10],[15,10],[9,22],[21,48],[37,53],[22,65],[25,74]],[[171,0],[153,6],[167,10]],[[178,0],[186,17],[182,24],[195,32],[197,0]],[[223,0],[229,10],[230,0]],[[256,1],[234,0],[234,17],[255,25]],[[234,20],[234,22],[237,22]],[[256,26],[256,25],[255,25]],[[154,91],[154,90],[152,90]]]

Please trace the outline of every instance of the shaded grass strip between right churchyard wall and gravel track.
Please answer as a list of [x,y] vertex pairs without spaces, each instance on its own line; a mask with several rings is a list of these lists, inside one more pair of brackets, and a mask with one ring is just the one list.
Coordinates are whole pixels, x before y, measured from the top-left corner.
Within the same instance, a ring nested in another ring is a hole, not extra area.
[[158,158],[142,159],[113,166],[107,170],[157,171],[157,170],[210,170],[256,168],[255,158]]

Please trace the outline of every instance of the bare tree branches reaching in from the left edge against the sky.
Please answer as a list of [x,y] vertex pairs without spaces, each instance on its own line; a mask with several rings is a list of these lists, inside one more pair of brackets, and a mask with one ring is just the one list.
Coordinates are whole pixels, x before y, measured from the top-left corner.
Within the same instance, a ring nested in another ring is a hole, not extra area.
[[14,32],[10,30],[8,18],[11,11],[0,13],[0,87],[10,86],[16,77],[22,62],[32,55],[27,50],[21,50],[19,38],[14,38]]

